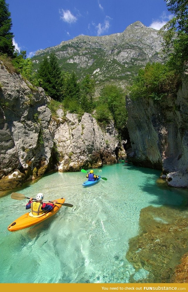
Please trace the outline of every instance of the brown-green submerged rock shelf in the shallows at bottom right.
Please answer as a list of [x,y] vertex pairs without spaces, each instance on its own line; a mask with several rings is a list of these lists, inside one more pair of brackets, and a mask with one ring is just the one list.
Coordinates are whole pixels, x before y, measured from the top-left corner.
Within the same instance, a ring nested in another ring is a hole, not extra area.
[[[126,255],[136,273],[140,269],[149,272],[138,282],[173,283],[177,281],[177,283],[182,283],[178,281],[186,281],[184,268],[187,267],[187,257],[184,255],[188,252],[187,208],[148,206],[141,210],[140,228],[140,234],[130,239]],[[181,258],[183,262],[180,273],[178,271],[181,267],[178,265]],[[137,282],[134,274],[130,282]]]

